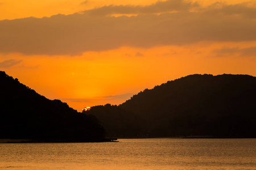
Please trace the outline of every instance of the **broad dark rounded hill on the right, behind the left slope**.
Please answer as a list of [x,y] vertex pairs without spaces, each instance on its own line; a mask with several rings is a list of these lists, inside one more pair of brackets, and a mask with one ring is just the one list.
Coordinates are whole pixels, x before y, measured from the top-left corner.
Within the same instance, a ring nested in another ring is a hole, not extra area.
[[189,75],[117,106],[92,107],[109,136],[256,137],[256,78]]

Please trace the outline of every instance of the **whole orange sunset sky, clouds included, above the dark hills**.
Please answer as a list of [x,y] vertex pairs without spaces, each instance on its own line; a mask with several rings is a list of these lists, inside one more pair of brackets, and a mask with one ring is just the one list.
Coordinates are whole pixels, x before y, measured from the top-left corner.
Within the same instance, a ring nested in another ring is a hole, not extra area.
[[253,1],[0,0],[0,70],[81,111],[189,74],[256,76],[255,30]]

